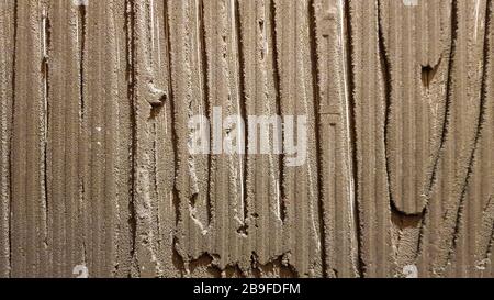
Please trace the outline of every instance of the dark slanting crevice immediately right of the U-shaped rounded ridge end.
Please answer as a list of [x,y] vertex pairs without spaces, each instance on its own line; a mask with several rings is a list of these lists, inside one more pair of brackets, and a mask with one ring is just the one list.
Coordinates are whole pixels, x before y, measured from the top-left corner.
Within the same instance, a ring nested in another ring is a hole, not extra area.
[[445,115],[442,121],[442,129],[440,134],[440,146],[437,152],[436,157],[434,158],[433,165],[433,174],[430,176],[429,185],[427,187],[427,203],[425,204],[423,212],[423,220],[419,230],[419,237],[417,244],[416,259],[422,255],[424,251],[424,237],[425,230],[427,227],[427,219],[429,213],[429,204],[433,197],[433,189],[437,182],[437,174],[439,169],[439,163],[442,157],[442,153],[445,152],[446,141],[449,133],[449,123],[450,123],[450,109],[451,109],[451,98],[452,98],[452,81],[453,81],[453,67],[454,67],[454,58],[457,54],[457,42],[458,42],[458,1],[452,0],[451,2],[451,45],[449,53],[449,62],[448,62],[448,70],[447,70],[447,84],[446,84],[446,104],[445,104]]

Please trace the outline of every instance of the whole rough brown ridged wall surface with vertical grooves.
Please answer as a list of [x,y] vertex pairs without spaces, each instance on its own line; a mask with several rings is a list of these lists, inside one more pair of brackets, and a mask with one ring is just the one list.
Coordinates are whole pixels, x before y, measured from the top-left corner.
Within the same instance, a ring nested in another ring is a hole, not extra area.
[[494,0],[0,1],[0,277],[493,277],[493,57]]

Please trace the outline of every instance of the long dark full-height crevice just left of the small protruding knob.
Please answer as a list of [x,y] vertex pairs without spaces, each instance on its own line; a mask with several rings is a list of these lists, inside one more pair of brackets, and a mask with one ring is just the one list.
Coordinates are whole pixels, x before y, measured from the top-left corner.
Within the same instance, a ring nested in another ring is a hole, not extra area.
[[139,277],[141,268],[138,266],[138,260],[136,257],[136,247],[137,247],[137,215],[136,215],[136,171],[137,171],[137,115],[135,112],[136,107],[136,95],[135,95],[135,43],[134,43],[134,34],[135,34],[135,2],[134,0],[125,0],[125,31],[127,36],[126,42],[126,75],[127,75],[127,96],[130,99],[128,109],[130,109],[130,118],[131,118],[131,178],[130,178],[130,196],[131,200],[128,202],[128,229],[131,234],[131,268],[128,270],[128,277],[133,277],[134,273],[137,277]]

